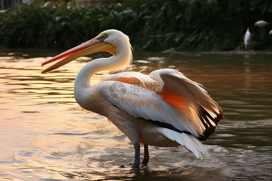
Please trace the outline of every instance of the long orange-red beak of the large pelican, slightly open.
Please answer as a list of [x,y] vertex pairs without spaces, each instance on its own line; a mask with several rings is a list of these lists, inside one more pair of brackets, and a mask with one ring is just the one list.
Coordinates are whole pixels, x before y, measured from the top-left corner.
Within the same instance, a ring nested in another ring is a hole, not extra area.
[[52,59],[46,60],[42,63],[42,66],[51,63],[53,61],[56,60],[60,60],[57,63],[51,65],[50,67],[47,67],[45,70],[42,71],[42,74],[46,73],[46,72],[50,72],[52,70],[55,70],[67,63],[69,63],[70,61],[76,60],[79,57],[85,56],[85,55],[89,55],[95,52],[99,52],[99,51],[107,51],[110,52],[111,54],[115,53],[115,46],[103,41],[98,40],[97,38],[101,37],[100,34],[97,37],[81,44],[78,45],[70,50],[67,50],[55,57],[53,57]]

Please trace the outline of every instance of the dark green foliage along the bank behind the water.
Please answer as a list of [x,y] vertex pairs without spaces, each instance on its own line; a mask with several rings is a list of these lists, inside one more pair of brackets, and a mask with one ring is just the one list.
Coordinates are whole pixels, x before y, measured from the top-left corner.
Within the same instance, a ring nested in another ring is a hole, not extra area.
[[254,27],[257,20],[271,21],[271,13],[267,0],[126,0],[91,7],[33,1],[0,13],[0,46],[70,48],[118,29],[134,49],[228,51],[244,49],[249,27],[255,49],[272,50],[272,26]]

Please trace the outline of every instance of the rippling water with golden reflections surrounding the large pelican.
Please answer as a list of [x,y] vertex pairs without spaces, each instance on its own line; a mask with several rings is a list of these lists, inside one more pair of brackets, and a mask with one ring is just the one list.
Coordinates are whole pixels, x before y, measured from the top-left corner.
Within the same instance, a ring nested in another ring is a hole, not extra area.
[[100,55],[41,75],[41,62],[56,53],[0,53],[0,180],[272,180],[272,53],[136,53],[128,71],[177,69],[203,84],[225,113],[203,142],[208,157],[150,147],[149,165],[137,171],[129,168],[128,138],[74,99],[76,73]]

